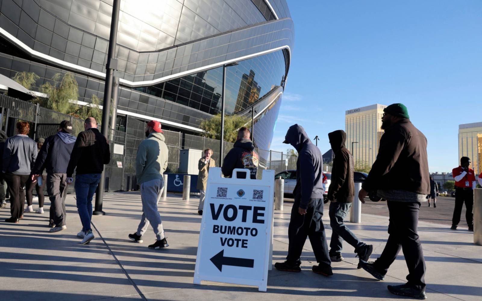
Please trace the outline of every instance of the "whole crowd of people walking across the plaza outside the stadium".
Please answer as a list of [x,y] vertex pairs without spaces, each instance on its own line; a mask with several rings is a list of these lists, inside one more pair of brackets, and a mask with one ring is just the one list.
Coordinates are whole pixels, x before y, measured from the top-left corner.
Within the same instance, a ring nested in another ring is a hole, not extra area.
[[[426,265],[418,236],[418,213],[422,202],[430,201],[436,207],[438,186],[428,173],[427,138],[410,121],[408,109],[402,104],[389,105],[382,117],[384,134],[375,163],[358,196],[354,187],[354,163],[352,154],[346,148],[347,135],[338,130],[328,134],[334,152],[331,184],[327,199],[323,200],[323,161],[320,149],[311,143],[302,126],[291,126],[285,135],[285,144],[291,144],[298,152],[296,162],[296,186],[288,227],[288,252],[286,261],[277,262],[276,269],[287,272],[301,272],[301,253],[309,237],[317,265],[312,271],[324,276],[333,275],[332,262],[342,261],[343,240],[354,248],[359,257],[357,268],[363,269],[378,280],[384,280],[390,265],[403,249],[408,267],[407,282],[398,286],[388,286],[396,295],[415,299],[426,299]],[[32,190],[38,195],[39,209],[43,213],[43,187],[46,186],[51,202],[49,210],[50,232],[67,229],[65,198],[68,185],[74,183],[77,210],[80,216],[81,231],[77,234],[81,244],[88,244],[94,234],[91,228],[92,200],[101,179],[104,165],[110,161],[109,142],[97,130],[94,118],[87,118],[84,131],[77,137],[72,135],[72,124],[62,121],[57,133],[36,141],[28,137],[30,131],[27,122],[16,124],[16,135],[6,139],[0,131],[0,200],[5,207],[3,180],[8,185],[11,203],[11,217],[5,222],[18,223],[24,213],[33,212]],[[158,203],[164,183],[163,173],[168,165],[168,148],[161,130],[161,123],[152,120],[147,123],[146,139],[137,149],[135,171],[140,186],[142,216],[136,232],[128,238],[136,243],[143,243],[143,235],[150,225],[156,236],[156,242],[150,249],[163,249],[169,246],[164,233]],[[233,170],[247,169],[237,178],[250,176],[256,179],[258,155],[250,139],[251,132],[243,127],[239,129],[234,147],[223,159],[222,173],[232,177]],[[197,188],[201,191],[198,213],[202,215],[206,196],[206,184],[210,168],[215,166],[213,150],[204,150],[199,159]],[[466,220],[469,231],[473,231],[473,189],[476,185],[475,173],[469,168],[470,159],[462,157],[460,166],[453,170],[455,179],[455,209],[452,229],[457,229],[462,206],[467,207]],[[478,180],[482,184],[482,177]],[[373,246],[362,242],[353,234],[344,222],[348,211],[358,197],[364,203],[370,193],[387,200],[389,211],[388,240],[382,253],[374,262],[369,262]],[[27,209],[24,209],[27,196]],[[328,246],[325,228],[322,222],[323,205],[329,204],[329,220],[332,228]]]

